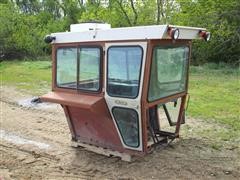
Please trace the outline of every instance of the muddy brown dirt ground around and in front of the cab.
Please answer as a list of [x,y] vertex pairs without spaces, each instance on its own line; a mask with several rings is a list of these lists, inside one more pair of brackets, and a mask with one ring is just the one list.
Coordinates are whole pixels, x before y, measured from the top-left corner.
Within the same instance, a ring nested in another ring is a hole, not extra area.
[[222,125],[187,118],[171,146],[128,163],[71,147],[61,107],[19,104],[26,98],[1,88],[0,179],[240,179],[239,141],[213,148],[215,137],[199,133]]

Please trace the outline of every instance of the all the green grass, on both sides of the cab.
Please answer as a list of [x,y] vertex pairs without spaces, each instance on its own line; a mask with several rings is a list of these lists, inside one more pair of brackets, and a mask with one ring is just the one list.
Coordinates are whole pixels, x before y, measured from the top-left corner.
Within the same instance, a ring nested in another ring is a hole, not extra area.
[[[51,89],[51,61],[0,63],[1,82],[40,95]],[[188,115],[224,124],[222,140],[240,137],[239,69],[207,64],[190,67]],[[211,132],[203,132],[209,134]]]

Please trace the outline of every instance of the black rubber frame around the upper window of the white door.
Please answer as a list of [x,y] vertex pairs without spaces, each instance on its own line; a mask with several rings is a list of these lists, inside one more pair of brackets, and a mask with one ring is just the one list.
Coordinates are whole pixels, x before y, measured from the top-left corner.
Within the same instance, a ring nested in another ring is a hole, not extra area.
[[[139,78],[138,78],[138,91],[137,91],[137,94],[136,96],[121,96],[121,95],[110,95],[109,94],[109,91],[108,91],[108,72],[109,72],[109,50],[111,48],[128,48],[128,47],[139,47],[140,50],[141,50],[141,58],[140,58],[140,71],[139,71]],[[138,96],[139,96],[139,90],[140,90],[140,83],[141,83],[141,75],[142,75],[142,65],[143,65],[143,56],[144,56],[144,50],[143,50],[143,47],[136,44],[136,45],[112,45],[112,46],[109,46],[108,49],[107,49],[107,63],[106,63],[106,92],[108,94],[108,96],[110,97],[119,97],[119,98],[128,98],[128,99],[136,99]]]

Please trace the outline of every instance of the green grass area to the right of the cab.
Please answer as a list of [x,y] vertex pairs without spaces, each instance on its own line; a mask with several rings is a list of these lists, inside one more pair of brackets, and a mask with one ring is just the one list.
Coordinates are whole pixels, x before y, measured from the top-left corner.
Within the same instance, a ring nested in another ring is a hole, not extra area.
[[226,125],[227,131],[214,132],[222,140],[240,137],[239,72],[214,64],[190,67],[188,114]]

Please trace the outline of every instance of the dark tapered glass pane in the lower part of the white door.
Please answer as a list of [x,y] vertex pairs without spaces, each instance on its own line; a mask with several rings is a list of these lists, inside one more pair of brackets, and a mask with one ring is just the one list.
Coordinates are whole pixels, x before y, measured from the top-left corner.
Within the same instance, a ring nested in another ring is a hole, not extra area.
[[133,109],[114,107],[113,116],[124,143],[127,146],[139,146],[138,114]]

